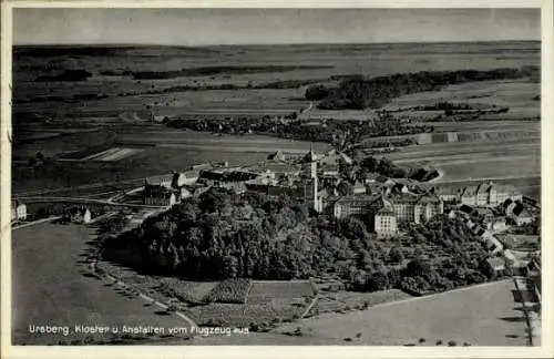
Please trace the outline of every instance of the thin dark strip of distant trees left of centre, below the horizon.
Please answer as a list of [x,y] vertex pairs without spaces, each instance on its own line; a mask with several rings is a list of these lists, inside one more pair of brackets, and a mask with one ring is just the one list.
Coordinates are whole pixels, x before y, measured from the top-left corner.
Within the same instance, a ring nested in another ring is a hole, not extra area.
[[261,66],[238,66],[238,65],[225,65],[225,66],[202,66],[202,68],[191,68],[181,70],[170,70],[170,71],[113,71],[105,70],[101,71],[100,74],[103,75],[116,75],[116,76],[132,76],[134,80],[162,80],[162,79],[175,79],[175,78],[186,78],[186,76],[207,76],[217,74],[244,74],[244,73],[264,73],[264,72],[287,72],[295,70],[319,70],[329,69],[332,66],[328,65],[261,65]]

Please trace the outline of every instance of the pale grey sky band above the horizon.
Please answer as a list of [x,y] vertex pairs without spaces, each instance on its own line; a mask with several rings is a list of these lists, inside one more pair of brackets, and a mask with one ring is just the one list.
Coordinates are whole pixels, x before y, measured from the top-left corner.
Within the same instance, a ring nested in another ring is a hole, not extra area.
[[13,9],[14,44],[540,40],[540,9]]

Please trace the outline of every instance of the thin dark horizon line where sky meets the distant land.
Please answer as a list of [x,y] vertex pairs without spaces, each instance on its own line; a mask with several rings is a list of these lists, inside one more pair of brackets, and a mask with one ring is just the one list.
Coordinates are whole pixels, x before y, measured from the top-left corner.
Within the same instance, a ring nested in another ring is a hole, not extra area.
[[171,44],[141,42],[90,42],[90,43],[12,43],[12,47],[174,47],[174,48],[208,48],[208,47],[279,47],[279,45],[365,45],[365,44],[412,44],[412,43],[491,43],[491,42],[541,42],[538,39],[499,39],[499,40],[442,40],[442,41],[384,41],[384,42],[281,42],[281,43],[207,43],[207,44]]

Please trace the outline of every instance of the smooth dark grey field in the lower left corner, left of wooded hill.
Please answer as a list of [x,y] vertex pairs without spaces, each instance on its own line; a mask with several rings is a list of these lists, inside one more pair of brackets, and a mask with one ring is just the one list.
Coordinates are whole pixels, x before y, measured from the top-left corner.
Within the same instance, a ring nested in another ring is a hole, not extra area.
[[[29,325],[184,326],[174,316],[156,315],[155,307],[88,275],[88,228],[40,224],[12,233],[12,340],[16,345],[47,345],[82,339],[84,335],[34,335]],[[166,329],[167,331],[167,329]],[[105,339],[102,337],[100,339]]]

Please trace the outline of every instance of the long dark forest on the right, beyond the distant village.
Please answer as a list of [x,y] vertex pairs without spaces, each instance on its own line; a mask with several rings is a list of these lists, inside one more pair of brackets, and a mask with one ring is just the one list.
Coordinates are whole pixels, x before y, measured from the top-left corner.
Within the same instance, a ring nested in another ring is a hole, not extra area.
[[422,71],[372,79],[361,75],[349,76],[337,88],[318,84],[307,89],[306,99],[320,101],[318,109],[322,110],[378,109],[404,94],[438,91],[451,84],[465,82],[534,78],[537,73],[540,73],[537,66],[523,66],[486,71]]

